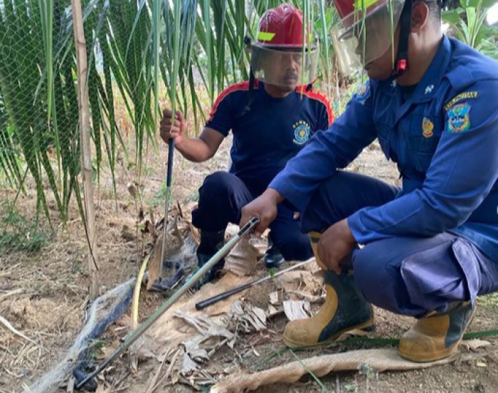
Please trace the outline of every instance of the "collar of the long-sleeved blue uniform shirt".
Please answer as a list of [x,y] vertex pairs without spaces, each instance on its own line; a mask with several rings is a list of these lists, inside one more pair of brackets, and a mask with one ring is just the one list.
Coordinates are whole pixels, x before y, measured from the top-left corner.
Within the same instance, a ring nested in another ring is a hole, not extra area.
[[[443,41],[440,44],[440,48],[436,56],[434,56],[432,63],[430,63],[429,68],[425,71],[423,78],[418,83],[417,88],[413,92],[411,103],[423,103],[425,101],[431,100],[438,91],[438,87],[443,80],[447,66],[451,59],[451,43],[447,36],[443,36]],[[385,80],[382,83],[386,93],[390,95],[396,95],[398,86],[396,80],[391,78],[390,80]]]

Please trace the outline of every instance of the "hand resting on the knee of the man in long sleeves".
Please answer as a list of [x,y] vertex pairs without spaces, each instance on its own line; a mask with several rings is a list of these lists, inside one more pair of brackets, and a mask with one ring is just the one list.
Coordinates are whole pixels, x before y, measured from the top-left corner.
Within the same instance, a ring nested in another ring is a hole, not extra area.
[[341,273],[341,261],[353,251],[356,240],[346,219],[332,225],[318,242],[318,256],[322,263],[337,274]]

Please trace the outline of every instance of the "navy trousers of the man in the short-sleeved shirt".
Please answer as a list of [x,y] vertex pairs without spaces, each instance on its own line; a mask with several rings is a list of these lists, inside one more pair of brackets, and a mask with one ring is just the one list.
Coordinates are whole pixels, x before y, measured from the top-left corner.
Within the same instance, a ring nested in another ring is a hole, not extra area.
[[[242,208],[262,192],[250,189],[234,174],[215,172],[199,189],[197,209],[192,224],[205,231],[223,231],[228,223],[238,224]],[[286,261],[305,261],[313,256],[307,235],[302,234],[300,220],[294,219],[296,209],[284,202],[278,206],[277,219],[270,224],[270,239]]]

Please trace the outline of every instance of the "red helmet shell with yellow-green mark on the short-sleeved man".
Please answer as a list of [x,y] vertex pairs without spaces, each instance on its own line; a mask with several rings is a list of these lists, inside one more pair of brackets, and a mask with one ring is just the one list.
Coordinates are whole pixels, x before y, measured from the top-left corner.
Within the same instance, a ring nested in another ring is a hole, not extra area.
[[302,24],[302,11],[282,4],[261,16],[256,40],[274,48],[302,47]]

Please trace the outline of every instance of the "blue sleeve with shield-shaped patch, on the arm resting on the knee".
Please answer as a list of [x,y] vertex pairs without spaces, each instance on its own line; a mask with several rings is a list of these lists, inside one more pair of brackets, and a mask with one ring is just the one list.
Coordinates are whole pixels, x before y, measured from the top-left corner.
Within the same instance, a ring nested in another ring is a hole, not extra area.
[[392,236],[434,236],[463,224],[498,179],[497,81],[477,83],[476,98],[446,110],[422,189],[349,217],[359,243]]

